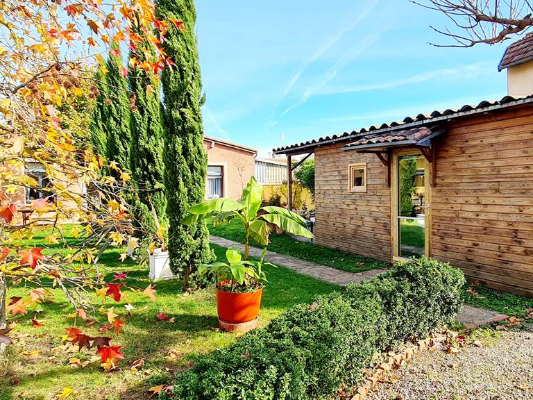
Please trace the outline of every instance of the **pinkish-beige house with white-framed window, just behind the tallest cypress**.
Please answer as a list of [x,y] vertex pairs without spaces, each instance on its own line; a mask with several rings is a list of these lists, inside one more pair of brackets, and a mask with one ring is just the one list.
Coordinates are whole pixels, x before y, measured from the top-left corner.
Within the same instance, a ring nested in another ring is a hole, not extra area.
[[239,200],[254,174],[257,150],[211,136],[203,137],[203,145],[208,154],[206,199],[230,197]]

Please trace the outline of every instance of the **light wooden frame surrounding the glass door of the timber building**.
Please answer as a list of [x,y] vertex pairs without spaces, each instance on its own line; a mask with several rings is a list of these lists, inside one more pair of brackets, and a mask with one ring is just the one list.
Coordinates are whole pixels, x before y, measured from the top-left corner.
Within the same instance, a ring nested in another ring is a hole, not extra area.
[[425,204],[425,231],[424,231],[424,254],[431,256],[431,163],[418,149],[400,149],[391,151],[391,263],[406,260],[398,256],[398,157],[400,156],[423,156],[424,160],[424,197]]

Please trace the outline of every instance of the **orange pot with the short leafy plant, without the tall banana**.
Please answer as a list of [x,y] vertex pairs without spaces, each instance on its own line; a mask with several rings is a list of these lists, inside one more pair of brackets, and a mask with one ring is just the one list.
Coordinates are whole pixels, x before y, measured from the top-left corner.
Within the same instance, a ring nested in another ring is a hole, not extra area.
[[203,274],[211,274],[217,280],[217,313],[224,326],[255,321],[259,315],[263,283],[267,281],[264,265],[264,249],[259,261],[244,260],[237,247],[226,250],[226,262],[202,265]]

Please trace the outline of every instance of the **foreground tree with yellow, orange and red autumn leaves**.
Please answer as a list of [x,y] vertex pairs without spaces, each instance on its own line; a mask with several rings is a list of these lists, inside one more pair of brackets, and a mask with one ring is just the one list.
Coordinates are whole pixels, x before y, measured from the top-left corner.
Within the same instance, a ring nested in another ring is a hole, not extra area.
[[[137,15],[142,17],[134,18]],[[121,247],[129,240],[130,209],[123,193],[130,176],[118,163],[107,163],[82,147],[80,132],[76,134],[78,124],[69,124],[65,105],[81,103],[83,91],[76,90],[73,82],[90,79],[87,64],[102,65],[103,49],[114,51],[122,42],[137,42],[138,34],[130,28],[134,23],[154,49],[153,56],[139,60],[137,67],[158,74],[171,63],[158,39],[164,37],[168,24],[155,18],[149,0],[112,6],[92,0],[0,2],[2,345],[9,342],[6,316],[37,307],[46,296],[42,286],[53,285],[65,292],[76,310],[78,324],[87,318],[98,320],[90,317],[96,314],[92,306],[95,290],[99,296],[122,299],[121,290],[126,285],[121,283],[121,276],[105,281],[98,260],[106,246]],[[82,38],[80,31],[87,27],[90,34]],[[96,56],[86,56],[95,52]],[[123,81],[115,78],[111,85],[124,88],[126,71],[118,56],[112,55],[109,66],[117,69]],[[110,84],[107,75],[105,81]],[[127,158],[121,163],[128,167]],[[33,213],[21,224],[21,195],[26,189],[38,189],[35,178],[26,174],[27,165],[38,165],[47,185],[40,189],[42,195],[31,201]],[[115,171],[115,177],[103,174],[105,169]],[[78,238],[76,244],[67,246],[62,239],[65,222]],[[65,251],[57,253],[50,248],[47,252],[31,245],[37,232],[46,232],[51,245],[63,242]],[[6,288],[11,285],[24,285],[27,294],[5,301]],[[151,285],[145,293],[153,298]],[[108,314],[108,321],[119,331],[121,322],[115,317]],[[120,347],[111,345],[110,338],[90,338],[78,326],[69,328],[67,334],[80,348],[94,348],[105,369],[114,368],[121,358]]]

